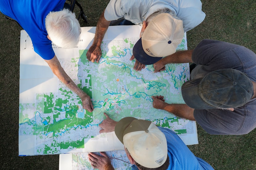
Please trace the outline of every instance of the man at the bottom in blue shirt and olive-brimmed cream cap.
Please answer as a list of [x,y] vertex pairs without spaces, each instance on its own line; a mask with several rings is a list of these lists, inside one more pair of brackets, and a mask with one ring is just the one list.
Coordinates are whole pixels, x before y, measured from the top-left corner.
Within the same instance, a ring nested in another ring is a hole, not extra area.
[[[99,124],[102,132],[115,132],[124,144],[132,170],[213,170],[213,167],[196,157],[168,128],[157,127],[153,122],[125,117],[116,122],[104,113],[106,119]],[[105,152],[102,156],[89,153],[89,162],[99,170],[114,170]]]

